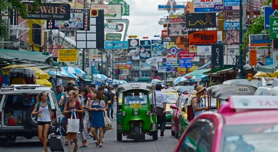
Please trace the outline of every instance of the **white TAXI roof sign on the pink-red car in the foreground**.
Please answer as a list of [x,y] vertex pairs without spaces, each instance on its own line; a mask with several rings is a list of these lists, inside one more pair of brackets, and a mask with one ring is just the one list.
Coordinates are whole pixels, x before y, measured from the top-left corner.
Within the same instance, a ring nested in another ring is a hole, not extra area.
[[278,109],[276,96],[230,96],[232,109]]

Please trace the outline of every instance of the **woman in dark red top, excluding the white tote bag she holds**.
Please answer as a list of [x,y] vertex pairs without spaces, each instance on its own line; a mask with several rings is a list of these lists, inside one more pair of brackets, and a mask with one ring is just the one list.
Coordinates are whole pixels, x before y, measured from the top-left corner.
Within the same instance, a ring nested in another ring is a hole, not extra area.
[[[74,90],[69,91],[69,97],[70,100],[65,104],[63,114],[65,114],[66,118],[66,128],[68,127],[68,119],[71,118],[72,111],[75,112],[76,118],[79,119],[79,121],[82,122],[82,113],[84,113],[84,109],[82,104],[77,100],[77,93]],[[81,126],[80,126],[81,127]],[[82,128],[79,128],[79,130],[82,130]],[[68,148],[69,152],[71,152],[71,143],[70,140],[73,138],[74,141],[74,152],[77,152],[77,138],[75,132],[67,132],[67,140],[68,140]]]

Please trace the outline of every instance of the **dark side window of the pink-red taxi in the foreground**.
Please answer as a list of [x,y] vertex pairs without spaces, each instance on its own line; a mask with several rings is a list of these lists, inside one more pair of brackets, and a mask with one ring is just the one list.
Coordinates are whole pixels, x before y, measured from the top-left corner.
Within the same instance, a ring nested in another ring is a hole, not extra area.
[[189,128],[179,152],[211,152],[213,136],[213,123],[207,119],[200,119]]

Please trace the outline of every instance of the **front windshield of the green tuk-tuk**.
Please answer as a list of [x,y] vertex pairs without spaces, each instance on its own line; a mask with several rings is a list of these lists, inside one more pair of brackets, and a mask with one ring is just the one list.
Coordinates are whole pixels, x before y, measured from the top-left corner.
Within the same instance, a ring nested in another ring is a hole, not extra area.
[[147,104],[147,94],[144,92],[128,93],[124,95],[124,104],[130,105],[132,103]]

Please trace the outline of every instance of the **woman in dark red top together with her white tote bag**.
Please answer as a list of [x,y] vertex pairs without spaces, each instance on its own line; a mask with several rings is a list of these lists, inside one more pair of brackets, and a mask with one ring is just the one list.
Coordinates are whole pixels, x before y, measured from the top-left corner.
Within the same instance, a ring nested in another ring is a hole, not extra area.
[[73,152],[76,152],[78,148],[76,133],[78,133],[79,130],[82,130],[79,124],[80,122],[83,122],[82,113],[84,113],[84,109],[82,104],[77,100],[77,94],[75,91],[71,90],[69,92],[69,97],[70,100],[65,104],[63,114],[66,115],[65,117],[69,152],[71,152],[71,138],[75,144]]

